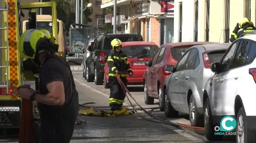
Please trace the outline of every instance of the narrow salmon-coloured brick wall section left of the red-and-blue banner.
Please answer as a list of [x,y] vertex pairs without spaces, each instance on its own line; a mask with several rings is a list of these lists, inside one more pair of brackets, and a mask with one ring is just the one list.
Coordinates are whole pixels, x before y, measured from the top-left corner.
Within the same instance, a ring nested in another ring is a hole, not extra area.
[[159,45],[159,19],[150,18],[150,41]]

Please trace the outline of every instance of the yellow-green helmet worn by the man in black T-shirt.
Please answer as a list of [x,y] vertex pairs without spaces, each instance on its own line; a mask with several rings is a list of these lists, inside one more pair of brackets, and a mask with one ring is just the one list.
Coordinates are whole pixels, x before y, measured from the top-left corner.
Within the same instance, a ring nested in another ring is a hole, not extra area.
[[37,42],[47,37],[39,30],[29,29],[26,30],[19,39],[18,51],[22,58],[35,58],[37,50]]

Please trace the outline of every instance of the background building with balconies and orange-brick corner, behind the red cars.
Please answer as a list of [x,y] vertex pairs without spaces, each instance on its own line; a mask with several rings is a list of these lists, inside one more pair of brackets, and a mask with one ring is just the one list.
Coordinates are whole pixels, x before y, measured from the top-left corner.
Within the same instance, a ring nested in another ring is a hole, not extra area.
[[[102,0],[101,8],[113,5],[113,0]],[[117,1],[117,15],[118,33],[140,33],[157,45],[173,42],[174,1]],[[112,20],[105,17],[107,22]]]

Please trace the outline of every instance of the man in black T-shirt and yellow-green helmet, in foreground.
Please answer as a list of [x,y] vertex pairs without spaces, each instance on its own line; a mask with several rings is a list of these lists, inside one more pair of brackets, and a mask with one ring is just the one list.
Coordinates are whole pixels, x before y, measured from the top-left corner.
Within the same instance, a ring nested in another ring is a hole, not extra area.
[[78,115],[78,93],[69,63],[55,53],[53,44],[39,30],[26,30],[20,37],[18,51],[21,57],[33,59],[40,65],[39,92],[19,88],[21,99],[36,101],[41,112],[42,143],[68,143]]

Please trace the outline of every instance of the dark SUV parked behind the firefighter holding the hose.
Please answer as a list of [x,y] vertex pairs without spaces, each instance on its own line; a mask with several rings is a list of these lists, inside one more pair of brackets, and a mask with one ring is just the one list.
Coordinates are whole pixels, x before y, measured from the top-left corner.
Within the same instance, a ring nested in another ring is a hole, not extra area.
[[90,56],[86,60],[86,81],[95,81],[96,85],[103,84],[103,72],[107,55],[112,50],[111,41],[119,39],[122,42],[143,41],[140,34],[100,34],[95,38],[92,46],[88,49]]

